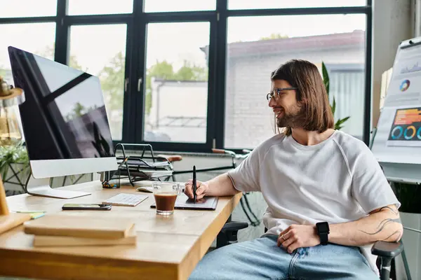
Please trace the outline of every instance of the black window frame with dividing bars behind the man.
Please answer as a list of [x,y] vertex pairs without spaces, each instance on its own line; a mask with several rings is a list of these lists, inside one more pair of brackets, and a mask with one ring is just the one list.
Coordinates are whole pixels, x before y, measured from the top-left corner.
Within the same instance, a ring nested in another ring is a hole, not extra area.
[[[363,141],[368,145],[371,127],[371,47],[373,10],[372,0],[366,6],[321,7],[321,8],[273,8],[251,10],[229,10],[229,0],[215,0],[216,10],[149,12],[145,13],[146,0],[133,0],[133,12],[116,15],[67,15],[69,0],[57,0],[57,14],[30,18],[0,18],[1,24],[55,22],[55,61],[68,63],[69,35],[73,25],[126,24],[126,67],[123,100],[123,131],[117,143],[148,143],[156,151],[178,151],[210,153],[211,148],[225,148],[225,83],[227,62],[227,20],[229,17],[265,15],[366,15],[365,46],[365,94],[363,116]],[[210,44],[208,64],[208,116],[206,120],[206,143],[145,142],[144,100],[146,76],[147,25],[156,22],[210,22]],[[141,78],[138,91],[138,79]],[[254,148],[254,147],[243,147]],[[242,149],[234,149],[240,152]]]

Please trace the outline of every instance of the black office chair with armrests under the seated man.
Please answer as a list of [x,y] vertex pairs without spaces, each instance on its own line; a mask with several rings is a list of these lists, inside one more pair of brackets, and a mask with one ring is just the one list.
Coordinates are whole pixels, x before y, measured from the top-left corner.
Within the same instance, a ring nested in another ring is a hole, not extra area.
[[[218,234],[218,237],[216,239],[216,248],[220,248],[222,246],[236,243],[238,231],[247,227],[248,227],[248,223],[227,221],[227,223],[225,223],[224,227]],[[265,228],[265,232],[267,232],[266,228]],[[375,244],[371,248],[371,253],[373,253],[373,255],[377,255],[377,267],[380,271],[380,280],[389,280],[392,260],[402,252],[403,252],[402,241],[399,241],[399,242],[377,241],[375,242]],[[405,270],[406,270],[406,276],[408,277],[408,280],[410,280],[410,275],[408,274],[407,269]]]

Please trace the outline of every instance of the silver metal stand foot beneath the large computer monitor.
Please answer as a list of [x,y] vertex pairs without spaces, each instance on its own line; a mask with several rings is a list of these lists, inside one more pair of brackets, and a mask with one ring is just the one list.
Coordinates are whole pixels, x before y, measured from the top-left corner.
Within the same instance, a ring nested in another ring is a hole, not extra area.
[[57,190],[50,186],[50,179],[35,179],[31,174],[27,181],[26,192],[29,195],[35,195],[39,197],[54,197],[54,198],[74,198],[83,197],[85,195],[91,195],[91,193],[75,192],[73,190]]

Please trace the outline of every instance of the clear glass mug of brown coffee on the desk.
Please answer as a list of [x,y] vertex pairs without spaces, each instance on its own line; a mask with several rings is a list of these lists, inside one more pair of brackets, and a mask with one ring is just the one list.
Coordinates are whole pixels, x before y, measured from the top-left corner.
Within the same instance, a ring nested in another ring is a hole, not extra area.
[[175,182],[154,182],[154,197],[156,204],[156,214],[172,215],[174,213],[175,200],[180,194],[182,187]]

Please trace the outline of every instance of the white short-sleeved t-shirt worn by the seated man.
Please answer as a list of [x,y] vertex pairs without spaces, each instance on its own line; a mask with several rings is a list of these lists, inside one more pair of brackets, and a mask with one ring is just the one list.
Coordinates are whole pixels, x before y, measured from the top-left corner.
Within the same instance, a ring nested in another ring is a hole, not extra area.
[[[237,190],[262,193],[268,205],[266,235],[279,235],[293,224],[356,221],[374,209],[401,206],[366,144],[338,130],[313,146],[278,134],[228,175]],[[371,245],[361,252],[378,272]]]

